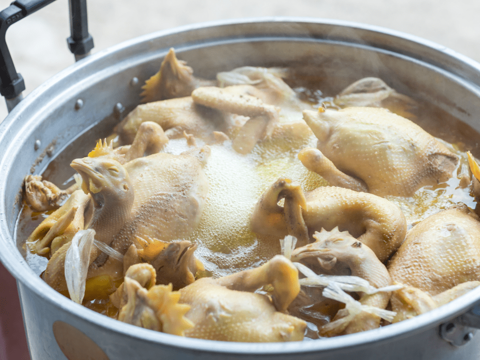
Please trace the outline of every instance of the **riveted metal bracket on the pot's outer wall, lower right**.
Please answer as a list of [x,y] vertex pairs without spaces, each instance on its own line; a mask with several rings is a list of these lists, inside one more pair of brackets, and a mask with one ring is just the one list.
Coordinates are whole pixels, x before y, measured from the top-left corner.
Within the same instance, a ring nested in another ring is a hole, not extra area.
[[440,336],[452,345],[462,346],[473,339],[475,329],[480,329],[480,305],[440,325]]

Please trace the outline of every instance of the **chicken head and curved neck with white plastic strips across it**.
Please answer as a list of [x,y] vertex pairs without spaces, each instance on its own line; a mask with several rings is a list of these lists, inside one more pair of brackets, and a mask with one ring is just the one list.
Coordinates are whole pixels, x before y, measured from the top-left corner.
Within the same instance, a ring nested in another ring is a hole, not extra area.
[[[320,266],[327,270],[332,269],[337,262],[342,262],[350,268],[353,276],[367,280],[370,285],[377,289],[392,284],[385,265],[378,260],[368,246],[359,242],[348,231],[322,230],[316,232],[313,236],[315,242],[293,250],[291,258],[293,262],[317,259]],[[384,309],[388,305],[390,295],[390,292],[363,294],[359,301],[362,305]],[[348,308],[340,310],[333,321],[344,318],[346,315],[348,315]],[[360,312],[343,326],[328,329],[322,334],[324,336],[335,336],[365,331],[379,327],[380,320],[379,316]]]

